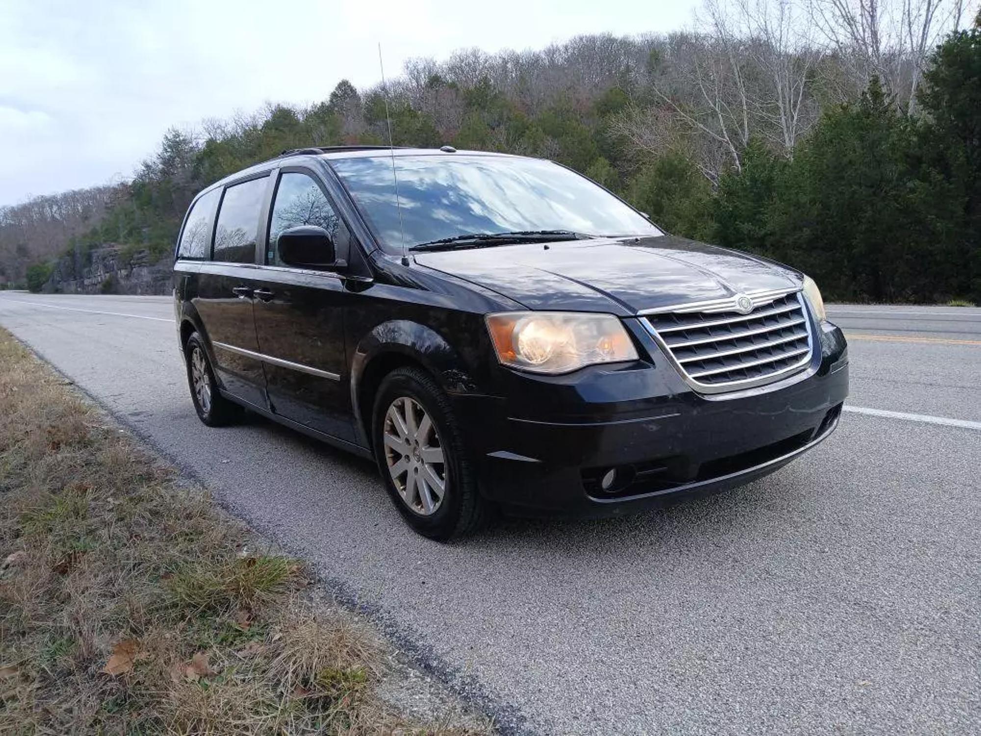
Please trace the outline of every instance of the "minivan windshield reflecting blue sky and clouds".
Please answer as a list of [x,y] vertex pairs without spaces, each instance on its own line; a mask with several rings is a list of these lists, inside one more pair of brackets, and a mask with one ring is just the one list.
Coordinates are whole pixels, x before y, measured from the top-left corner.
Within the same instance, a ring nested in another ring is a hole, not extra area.
[[[391,158],[330,163],[382,245],[400,252]],[[407,247],[444,238],[531,231],[661,235],[608,191],[550,161],[461,154],[396,156],[395,170]]]

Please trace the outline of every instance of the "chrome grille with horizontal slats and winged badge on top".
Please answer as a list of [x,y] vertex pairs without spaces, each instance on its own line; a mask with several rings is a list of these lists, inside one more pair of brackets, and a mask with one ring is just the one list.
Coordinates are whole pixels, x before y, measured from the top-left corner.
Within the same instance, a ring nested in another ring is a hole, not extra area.
[[813,348],[800,292],[750,299],[746,314],[735,300],[721,300],[648,314],[645,320],[682,376],[709,393],[766,384],[803,370]]

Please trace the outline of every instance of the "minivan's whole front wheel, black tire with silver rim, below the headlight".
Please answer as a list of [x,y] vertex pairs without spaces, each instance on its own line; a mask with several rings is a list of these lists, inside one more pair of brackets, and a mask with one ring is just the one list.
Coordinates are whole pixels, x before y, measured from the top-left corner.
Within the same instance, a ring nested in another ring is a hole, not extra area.
[[419,534],[439,542],[479,529],[489,504],[477,489],[449,399],[418,368],[382,381],[372,412],[372,444],[388,495]]

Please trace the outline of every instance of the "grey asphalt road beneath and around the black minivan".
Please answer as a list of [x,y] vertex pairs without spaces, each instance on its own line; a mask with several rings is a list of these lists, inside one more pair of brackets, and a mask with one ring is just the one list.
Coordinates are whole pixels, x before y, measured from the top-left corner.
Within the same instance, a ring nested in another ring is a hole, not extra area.
[[797,462],[667,510],[440,546],[370,464],[259,419],[201,425],[169,298],[0,293],[0,324],[503,730],[977,733],[981,309],[830,312],[852,411]]

